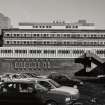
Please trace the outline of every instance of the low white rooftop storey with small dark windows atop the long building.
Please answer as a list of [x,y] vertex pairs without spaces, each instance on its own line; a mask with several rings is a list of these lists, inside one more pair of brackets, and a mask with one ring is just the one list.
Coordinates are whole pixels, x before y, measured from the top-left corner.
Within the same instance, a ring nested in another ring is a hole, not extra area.
[[95,29],[94,23],[87,23],[86,20],[79,20],[75,23],[66,23],[65,21],[53,21],[51,23],[19,23],[20,29]]

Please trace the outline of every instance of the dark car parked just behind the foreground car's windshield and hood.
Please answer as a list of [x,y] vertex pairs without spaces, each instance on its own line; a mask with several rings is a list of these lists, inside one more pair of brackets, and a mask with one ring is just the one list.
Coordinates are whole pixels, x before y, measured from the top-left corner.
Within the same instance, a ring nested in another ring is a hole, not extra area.
[[49,75],[38,76],[38,77],[52,79],[63,86],[76,87],[79,85],[83,85],[82,81],[78,79],[71,79],[69,76],[64,75],[64,74],[59,74],[59,73],[51,73]]

